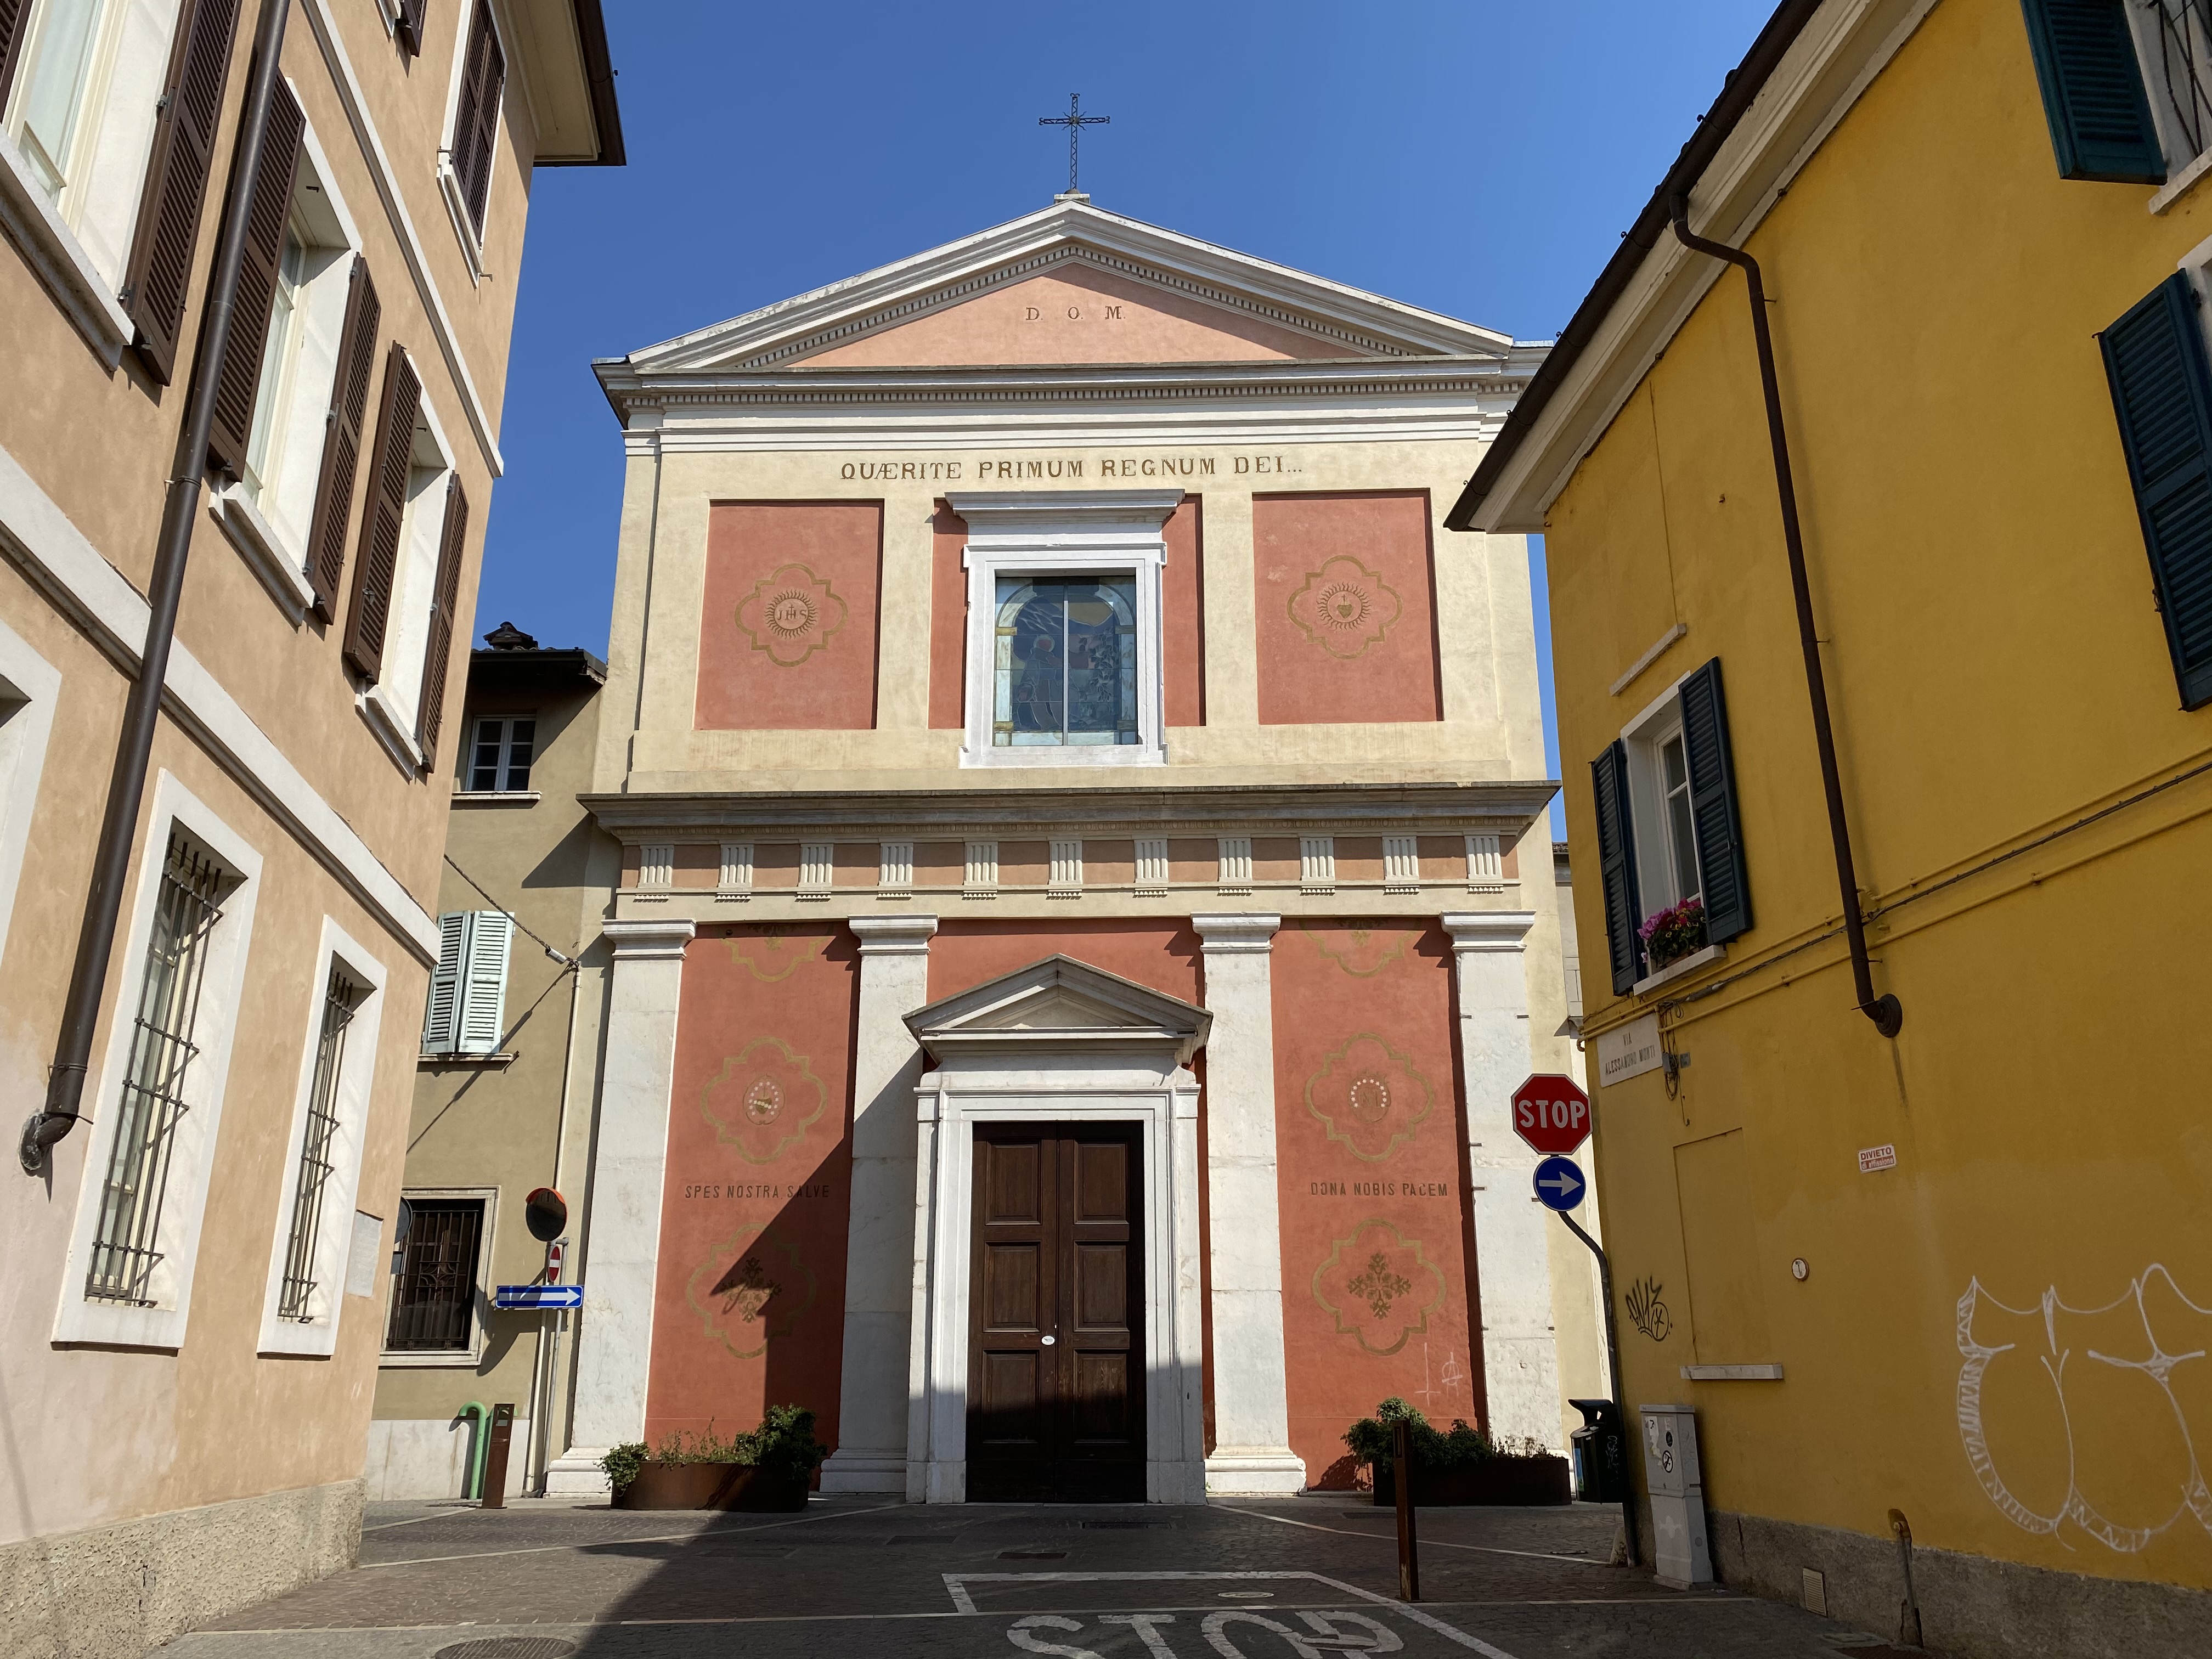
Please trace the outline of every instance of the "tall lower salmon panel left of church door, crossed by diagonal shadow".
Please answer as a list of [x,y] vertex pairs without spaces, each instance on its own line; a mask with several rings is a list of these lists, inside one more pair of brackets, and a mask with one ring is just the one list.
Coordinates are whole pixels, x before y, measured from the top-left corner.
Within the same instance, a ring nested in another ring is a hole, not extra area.
[[836,1444],[858,949],[734,925],[684,953],[646,1442],[807,1405]]

